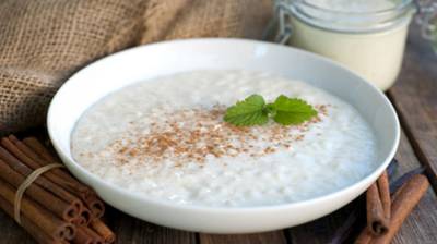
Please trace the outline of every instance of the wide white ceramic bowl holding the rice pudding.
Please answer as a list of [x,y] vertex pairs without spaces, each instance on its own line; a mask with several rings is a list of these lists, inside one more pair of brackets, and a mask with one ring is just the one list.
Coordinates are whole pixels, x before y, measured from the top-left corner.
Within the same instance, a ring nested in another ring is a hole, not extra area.
[[[71,156],[75,122],[94,102],[138,81],[191,70],[257,70],[305,81],[353,105],[376,132],[379,167],[349,187],[298,203],[265,207],[181,206],[141,196],[109,184]],[[153,223],[210,233],[245,233],[293,227],[326,216],[362,194],[397,150],[397,114],[376,87],[345,68],[291,47],[243,39],[189,39],[132,48],[79,71],[59,89],[48,118],[51,142],[68,169],[115,208]]]

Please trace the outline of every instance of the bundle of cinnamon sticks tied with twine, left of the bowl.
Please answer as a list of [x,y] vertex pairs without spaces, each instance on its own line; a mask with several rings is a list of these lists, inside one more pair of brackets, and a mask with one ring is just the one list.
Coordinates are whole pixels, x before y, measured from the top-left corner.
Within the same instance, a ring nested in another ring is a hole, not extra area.
[[[34,137],[22,142],[11,135],[0,144],[0,208],[14,218],[16,188],[34,170],[59,160]],[[98,219],[104,211],[105,205],[91,187],[54,169],[26,188],[20,219],[38,243],[109,244],[115,234]]]

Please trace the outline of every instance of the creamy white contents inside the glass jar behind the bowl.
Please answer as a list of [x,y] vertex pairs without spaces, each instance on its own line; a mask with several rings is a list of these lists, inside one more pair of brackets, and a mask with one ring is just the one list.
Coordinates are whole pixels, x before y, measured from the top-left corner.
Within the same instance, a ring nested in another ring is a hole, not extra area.
[[[353,27],[366,27],[378,22],[377,15],[361,15],[395,8],[391,0],[310,0],[311,4],[332,11],[350,12],[349,22],[336,22],[336,13],[323,12],[322,27],[292,17],[291,45],[331,58],[355,71],[378,88],[386,90],[395,81],[403,58],[410,17],[389,28],[353,33]],[[310,11],[307,11],[310,13]],[[339,30],[332,30],[339,29]]]

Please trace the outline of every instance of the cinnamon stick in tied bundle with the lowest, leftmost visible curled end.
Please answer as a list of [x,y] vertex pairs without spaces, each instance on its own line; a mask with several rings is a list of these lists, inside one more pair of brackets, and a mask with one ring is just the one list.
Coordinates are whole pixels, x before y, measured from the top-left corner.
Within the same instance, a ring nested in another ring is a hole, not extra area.
[[[2,180],[0,180],[0,196],[10,205],[14,205],[15,192]],[[23,196],[21,200],[21,215],[37,224],[47,235],[55,240],[72,240],[74,237],[75,228],[73,224],[60,220],[27,196]],[[13,212],[10,213],[13,215]]]

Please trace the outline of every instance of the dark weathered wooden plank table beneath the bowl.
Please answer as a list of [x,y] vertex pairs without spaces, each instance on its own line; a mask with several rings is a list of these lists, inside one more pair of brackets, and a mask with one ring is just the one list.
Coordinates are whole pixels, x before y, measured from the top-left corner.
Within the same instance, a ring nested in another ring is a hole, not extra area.
[[[402,139],[397,159],[398,175],[420,166],[433,183],[426,196],[403,224],[393,243],[437,243],[437,56],[418,38],[414,26],[408,40],[403,69],[395,86],[388,91],[402,123]],[[371,109],[371,108],[369,108]],[[353,203],[330,216],[299,227],[245,235],[191,233],[137,220],[109,209],[107,222],[118,235],[118,243],[328,243],[344,222]],[[359,211],[365,215],[364,208]],[[293,217],[291,217],[293,218]],[[187,221],[190,221],[187,219]],[[358,231],[358,230],[355,230]],[[0,211],[0,243],[26,244],[34,241],[12,219]],[[351,241],[347,241],[351,243]]]

